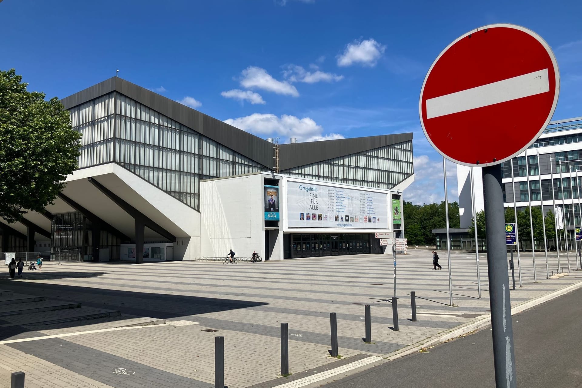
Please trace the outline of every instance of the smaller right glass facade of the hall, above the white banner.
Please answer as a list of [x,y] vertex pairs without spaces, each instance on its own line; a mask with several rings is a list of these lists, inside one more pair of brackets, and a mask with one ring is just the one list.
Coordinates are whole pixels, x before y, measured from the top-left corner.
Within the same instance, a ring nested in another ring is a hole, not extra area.
[[414,173],[412,141],[281,170],[285,175],[392,188]]

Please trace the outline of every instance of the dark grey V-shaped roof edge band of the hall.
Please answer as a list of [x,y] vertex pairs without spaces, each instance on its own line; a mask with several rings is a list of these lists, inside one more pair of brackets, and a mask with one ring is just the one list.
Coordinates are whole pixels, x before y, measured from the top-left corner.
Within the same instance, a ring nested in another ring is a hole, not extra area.
[[[270,169],[274,166],[273,156],[275,153],[272,143],[119,77],[112,77],[102,81],[69,97],[65,97],[61,101],[65,105],[65,108],[70,109],[112,91],[126,95],[140,104],[148,106],[150,109],[154,109],[154,111],[162,113],[162,115],[168,116],[172,120],[239,152],[239,154],[261,163],[261,165],[267,166]],[[412,133],[402,133],[339,140],[311,141],[308,143],[281,144],[279,148],[279,168],[285,170],[308,165],[327,159],[338,158],[339,156],[356,154],[357,152],[367,151],[368,149],[412,140],[412,138]]]

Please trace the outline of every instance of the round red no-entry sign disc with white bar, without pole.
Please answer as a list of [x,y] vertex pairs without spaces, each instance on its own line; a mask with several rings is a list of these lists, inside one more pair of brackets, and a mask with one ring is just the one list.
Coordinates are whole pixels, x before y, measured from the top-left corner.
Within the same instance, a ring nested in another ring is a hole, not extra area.
[[432,63],[420,92],[420,122],[445,158],[496,165],[540,136],[559,90],[558,63],[539,35],[492,24],[457,38]]

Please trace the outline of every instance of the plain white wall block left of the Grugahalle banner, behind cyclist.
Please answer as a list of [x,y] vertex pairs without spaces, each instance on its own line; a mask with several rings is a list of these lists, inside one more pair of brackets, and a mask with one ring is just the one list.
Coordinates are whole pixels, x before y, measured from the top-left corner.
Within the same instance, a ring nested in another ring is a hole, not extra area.
[[226,257],[232,249],[265,257],[263,175],[203,181],[200,191],[200,256]]

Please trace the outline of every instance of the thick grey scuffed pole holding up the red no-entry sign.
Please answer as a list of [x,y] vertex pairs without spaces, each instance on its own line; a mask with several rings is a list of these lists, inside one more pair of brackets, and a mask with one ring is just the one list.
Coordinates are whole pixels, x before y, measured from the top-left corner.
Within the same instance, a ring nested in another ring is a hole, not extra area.
[[505,229],[502,227],[505,225],[505,214],[501,188],[501,165],[484,167],[482,172],[495,386],[516,388],[508,251]]

